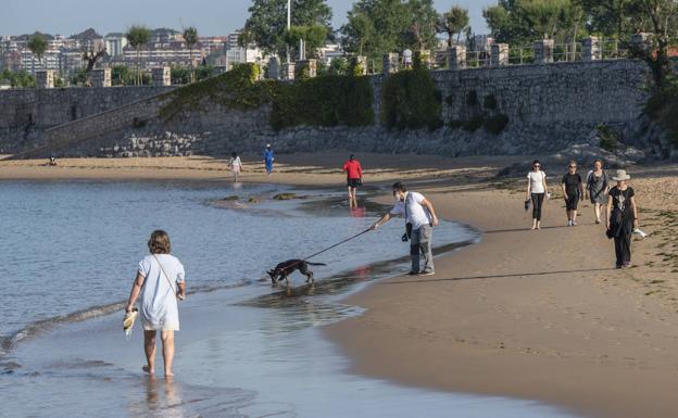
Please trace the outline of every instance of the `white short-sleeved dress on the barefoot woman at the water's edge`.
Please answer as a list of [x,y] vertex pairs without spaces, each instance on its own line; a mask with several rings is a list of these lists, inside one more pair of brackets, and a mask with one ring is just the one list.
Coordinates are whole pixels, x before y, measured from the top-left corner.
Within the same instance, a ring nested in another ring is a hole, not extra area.
[[[165,278],[158,261],[167,274]],[[147,255],[139,262],[139,273],[145,277],[139,296],[139,315],[145,330],[179,330],[177,283],[184,282],[184,265],[170,254]]]

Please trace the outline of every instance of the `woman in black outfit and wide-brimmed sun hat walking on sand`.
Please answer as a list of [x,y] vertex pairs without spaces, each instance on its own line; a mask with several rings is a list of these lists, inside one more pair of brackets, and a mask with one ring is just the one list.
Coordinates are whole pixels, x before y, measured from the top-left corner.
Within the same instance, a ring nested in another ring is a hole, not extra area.
[[631,233],[639,228],[638,206],[636,192],[627,185],[631,176],[624,169],[617,169],[612,179],[617,186],[610,189],[605,226],[607,237],[614,238],[616,267],[624,268],[631,265]]

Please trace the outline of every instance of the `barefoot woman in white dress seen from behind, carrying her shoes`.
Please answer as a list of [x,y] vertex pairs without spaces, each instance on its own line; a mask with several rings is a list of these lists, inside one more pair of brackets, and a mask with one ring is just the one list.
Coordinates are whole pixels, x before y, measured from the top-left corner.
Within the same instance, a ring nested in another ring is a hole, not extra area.
[[184,266],[175,256],[170,255],[172,245],[167,232],[153,231],[148,248],[151,254],[139,262],[137,278],[131,286],[125,312],[131,312],[138,297],[147,360],[142,370],[149,375],[155,371],[155,337],[161,331],[165,376],[172,377],[174,331],[179,330],[177,299],[186,297]]

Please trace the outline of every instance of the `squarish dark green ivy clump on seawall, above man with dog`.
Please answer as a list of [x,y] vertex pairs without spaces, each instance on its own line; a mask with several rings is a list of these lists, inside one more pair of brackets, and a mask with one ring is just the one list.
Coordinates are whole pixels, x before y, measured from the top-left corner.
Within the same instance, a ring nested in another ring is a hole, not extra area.
[[388,128],[430,130],[443,126],[442,94],[426,69],[403,71],[384,83],[381,119]]

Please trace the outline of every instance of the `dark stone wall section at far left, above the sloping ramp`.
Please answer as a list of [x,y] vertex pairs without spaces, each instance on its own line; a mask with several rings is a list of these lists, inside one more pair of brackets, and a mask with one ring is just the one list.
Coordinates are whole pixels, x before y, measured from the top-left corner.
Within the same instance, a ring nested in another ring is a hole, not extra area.
[[171,90],[93,87],[0,90],[0,153],[38,141],[45,129]]

